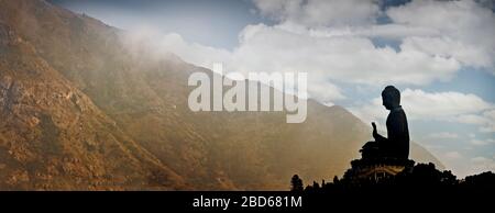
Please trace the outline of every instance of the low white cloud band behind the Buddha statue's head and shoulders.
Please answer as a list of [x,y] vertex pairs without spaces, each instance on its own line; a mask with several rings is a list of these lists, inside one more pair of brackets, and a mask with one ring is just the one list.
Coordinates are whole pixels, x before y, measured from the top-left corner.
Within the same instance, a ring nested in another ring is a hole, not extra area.
[[[402,105],[409,120],[473,124],[481,132],[495,132],[495,104],[475,94],[405,89]],[[387,114],[380,97],[351,111],[366,122],[384,121]]]

